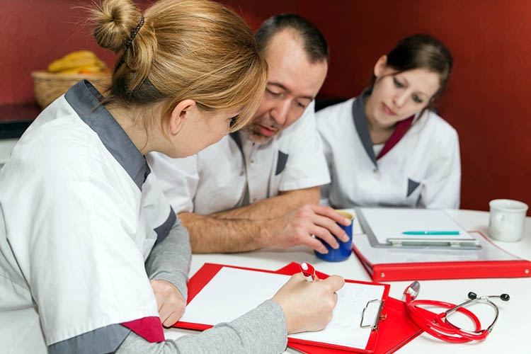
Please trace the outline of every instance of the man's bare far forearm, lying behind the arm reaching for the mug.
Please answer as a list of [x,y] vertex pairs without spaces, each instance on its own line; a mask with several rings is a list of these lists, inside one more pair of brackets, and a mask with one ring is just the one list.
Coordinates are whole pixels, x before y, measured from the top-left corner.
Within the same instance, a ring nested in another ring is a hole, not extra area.
[[253,202],[250,205],[211,214],[217,219],[265,220],[286,215],[304,204],[319,204],[319,186],[280,192],[272,198]]

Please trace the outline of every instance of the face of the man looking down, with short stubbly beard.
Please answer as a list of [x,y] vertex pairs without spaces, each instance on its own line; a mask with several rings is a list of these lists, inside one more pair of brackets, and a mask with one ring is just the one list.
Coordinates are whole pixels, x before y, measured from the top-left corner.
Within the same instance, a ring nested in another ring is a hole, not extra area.
[[271,38],[265,53],[268,84],[251,121],[242,130],[253,142],[265,142],[292,125],[323,85],[326,60],[312,63],[290,30]]

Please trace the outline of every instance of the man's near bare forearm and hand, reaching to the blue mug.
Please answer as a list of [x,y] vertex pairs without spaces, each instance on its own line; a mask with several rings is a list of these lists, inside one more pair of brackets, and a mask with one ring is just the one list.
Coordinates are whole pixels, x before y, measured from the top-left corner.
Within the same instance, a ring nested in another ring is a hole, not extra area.
[[327,253],[326,247],[312,235],[337,248],[339,245],[332,234],[342,241],[347,241],[348,236],[336,222],[350,224],[350,220],[331,207],[314,204],[302,205],[268,220],[217,219],[190,212],[181,212],[178,216],[188,229],[193,253],[241,252],[299,244]]

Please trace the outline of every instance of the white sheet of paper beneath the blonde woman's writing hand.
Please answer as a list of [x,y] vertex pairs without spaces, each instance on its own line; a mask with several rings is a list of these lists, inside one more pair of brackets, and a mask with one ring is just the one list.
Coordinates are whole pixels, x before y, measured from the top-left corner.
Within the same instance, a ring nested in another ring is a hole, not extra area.
[[[290,275],[224,267],[195,295],[180,321],[212,325],[232,321],[273,297],[289,278]],[[325,329],[290,334],[289,337],[365,348],[371,329],[360,328],[362,312],[370,300],[382,299],[384,287],[346,282],[337,294],[333,319]],[[365,321],[374,321],[376,316],[376,310],[366,312]]]

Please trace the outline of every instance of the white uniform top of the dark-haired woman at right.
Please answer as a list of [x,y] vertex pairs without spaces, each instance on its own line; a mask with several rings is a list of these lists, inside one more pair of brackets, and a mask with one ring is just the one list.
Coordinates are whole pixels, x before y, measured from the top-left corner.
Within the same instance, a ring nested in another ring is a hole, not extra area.
[[337,208],[459,208],[461,165],[455,129],[426,110],[387,154],[375,159],[363,144],[372,149],[362,97],[316,113],[331,173],[321,202]]

